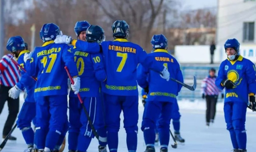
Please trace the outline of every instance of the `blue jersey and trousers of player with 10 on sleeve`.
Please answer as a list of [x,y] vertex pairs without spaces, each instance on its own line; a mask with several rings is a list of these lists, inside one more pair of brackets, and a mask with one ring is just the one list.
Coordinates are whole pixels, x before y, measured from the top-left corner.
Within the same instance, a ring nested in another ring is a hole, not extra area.
[[[106,145],[106,132],[102,135],[103,124],[102,100],[100,97],[101,82],[106,80],[103,57],[100,53],[89,54],[81,49],[72,50],[77,63],[78,75],[81,78],[80,95],[83,104],[88,111],[90,120]],[[80,120],[80,122],[78,122]],[[88,119],[82,111],[82,106],[76,94],[71,90],[69,93],[69,135],[68,149],[73,151],[86,151],[91,139],[94,137]],[[103,131],[104,133],[104,131]]]

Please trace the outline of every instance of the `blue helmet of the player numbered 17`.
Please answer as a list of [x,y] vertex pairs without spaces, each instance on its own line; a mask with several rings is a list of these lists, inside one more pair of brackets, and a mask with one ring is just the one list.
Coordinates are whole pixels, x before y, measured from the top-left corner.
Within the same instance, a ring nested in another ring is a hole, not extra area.
[[40,38],[44,41],[55,40],[57,35],[62,35],[60,27],[54,23],[44,24],[40,31]]

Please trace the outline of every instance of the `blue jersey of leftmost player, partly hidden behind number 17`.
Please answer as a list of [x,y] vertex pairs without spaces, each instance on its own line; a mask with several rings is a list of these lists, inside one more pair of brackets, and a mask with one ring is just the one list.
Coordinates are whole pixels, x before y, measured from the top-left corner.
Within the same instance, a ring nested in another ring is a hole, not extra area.
[[[26,68],[26,64],[23,59],[25,53],[29,53],[29,51],[24,50],[24,51],[20,52],[19,57],[17,58],[18,64],[23,68]],[[25,99],[25,102],[35,102],[34,89],[35,89],[36,81],[33,78],[31,78],[30,76],[28,76],[28,74],[26,72],[24,72],[20,67],[19,67],[19,70],[21,73],[21,79],[16,85],[22,90],[24,88],[26,88],[27,98]]]

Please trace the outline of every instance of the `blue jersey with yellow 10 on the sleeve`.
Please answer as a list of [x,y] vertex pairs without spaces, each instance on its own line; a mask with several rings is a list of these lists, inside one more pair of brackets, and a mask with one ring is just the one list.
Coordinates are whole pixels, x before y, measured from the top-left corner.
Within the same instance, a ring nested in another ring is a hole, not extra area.
[[[75,62],[78,76],[81,78],[80,95],[83,97],[97,97],[100,94],[101,82],[106,80],[103,57],[101,53],[89,54],[74,48]],[[77,97],[71,90],[70,97]]]

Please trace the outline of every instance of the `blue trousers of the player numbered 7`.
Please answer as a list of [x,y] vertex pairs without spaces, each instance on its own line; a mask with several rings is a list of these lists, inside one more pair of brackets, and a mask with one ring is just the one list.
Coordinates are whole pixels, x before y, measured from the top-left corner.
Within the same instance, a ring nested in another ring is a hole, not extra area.
[[129,152],[137,150],[138,96],[104,94],[107,140],[110,152],[117,152],[120,114],[123,111],[126,144]]

